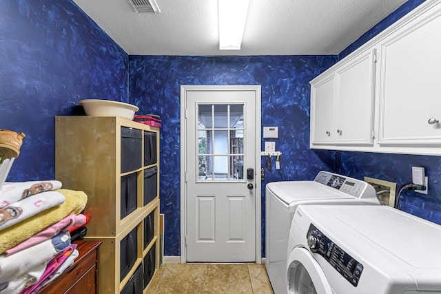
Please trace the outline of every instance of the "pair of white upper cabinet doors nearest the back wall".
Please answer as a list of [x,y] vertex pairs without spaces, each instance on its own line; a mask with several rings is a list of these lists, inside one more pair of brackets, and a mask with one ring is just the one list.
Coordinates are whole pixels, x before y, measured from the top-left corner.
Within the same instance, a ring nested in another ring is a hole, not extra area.
[[372,145],[375,50],[311,81],[311,145]]

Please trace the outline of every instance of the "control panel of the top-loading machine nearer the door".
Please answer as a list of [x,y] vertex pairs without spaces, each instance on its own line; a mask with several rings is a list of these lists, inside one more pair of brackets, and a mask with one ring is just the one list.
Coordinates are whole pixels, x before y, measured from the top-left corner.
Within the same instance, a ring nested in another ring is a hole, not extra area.
[[[320,171],[314,181],[319,182],[322,185],[326,185],[328,187],[348,193],[349,195],[357,198],[364,197],[363,194],[365,193],[366,187],[368,185],[367,182],[364,182],[362,180],[332,174],[327,171]],[[373,195],[370,197],[376,196]]]

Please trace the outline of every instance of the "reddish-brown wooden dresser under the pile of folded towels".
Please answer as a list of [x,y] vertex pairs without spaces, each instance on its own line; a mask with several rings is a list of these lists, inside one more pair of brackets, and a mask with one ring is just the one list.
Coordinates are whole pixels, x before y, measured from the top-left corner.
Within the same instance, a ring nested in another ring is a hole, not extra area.
[[57,279],[41,288],[39,293],[98,293],[99,241],[76,241],[79,257]]

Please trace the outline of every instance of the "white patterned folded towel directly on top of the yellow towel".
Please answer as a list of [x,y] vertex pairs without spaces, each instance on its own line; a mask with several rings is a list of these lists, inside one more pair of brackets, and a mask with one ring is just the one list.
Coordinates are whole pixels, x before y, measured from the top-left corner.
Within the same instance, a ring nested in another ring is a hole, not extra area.
[[57,191],[48,191],[9,204],[0,209],[0,230],[55,207],[63,203],[64,200],[63,194]]

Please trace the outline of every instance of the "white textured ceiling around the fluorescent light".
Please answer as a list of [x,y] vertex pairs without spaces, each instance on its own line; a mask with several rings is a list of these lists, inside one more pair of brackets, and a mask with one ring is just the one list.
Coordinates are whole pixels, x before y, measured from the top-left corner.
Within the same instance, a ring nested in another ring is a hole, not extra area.
[[74,0],[130,55],[338,54],[406,0],[250,0],[241,50],[218,49],[216,0]]

